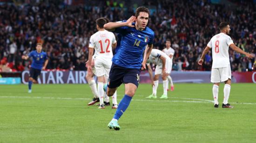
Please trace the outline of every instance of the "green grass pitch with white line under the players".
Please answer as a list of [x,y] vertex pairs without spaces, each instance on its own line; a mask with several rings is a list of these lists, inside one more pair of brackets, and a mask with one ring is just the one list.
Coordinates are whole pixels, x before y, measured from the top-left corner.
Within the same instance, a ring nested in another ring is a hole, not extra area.
[[[219,103],[223,101],[223,84]],[[0,143],[255,143],[256,84],[232,84],[229,103],[214,108],[212,84],[175,84],[168,99],[145,98],[150,84],[140,84],[119,120],[107,125],[115,110],[88,106],[88,84],[0,85]],[[124,86],[118,89],[118,102]],[[110,99],[110,102],[111,99]]]

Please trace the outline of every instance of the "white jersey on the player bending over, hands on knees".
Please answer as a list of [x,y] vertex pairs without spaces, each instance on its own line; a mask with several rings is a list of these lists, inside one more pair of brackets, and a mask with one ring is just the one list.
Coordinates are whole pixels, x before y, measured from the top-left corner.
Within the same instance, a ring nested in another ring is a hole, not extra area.
[[170,57],[166,53],[164,53],[158,49],[152,49],[152,51],[149,55],[149,58],[147,60],[147,63],[148,64],[152,63],[155,65],[162,65],[162,59],[160,59],[161,56],[170,59]]

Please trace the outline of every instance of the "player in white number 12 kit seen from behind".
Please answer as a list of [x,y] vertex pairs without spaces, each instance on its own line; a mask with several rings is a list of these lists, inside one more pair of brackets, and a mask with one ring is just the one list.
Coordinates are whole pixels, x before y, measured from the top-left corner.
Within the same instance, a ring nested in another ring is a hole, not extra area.
[[[96,20],[96,26],[98,32],[94,33],[90,38],[89,43],[89,58],[88,58],[88,74],[92,73],[92,58],[94,53],[94,68],[95,75],[98,78],[98,96],[100,99],[100,107],[99,109],[105,109],[103,102],[103,84],[104,84],[104,75],[108,77],[111,65],[112,65],[112,47],[116,47],[115,35],[112,32],[108,32],[104,29],[104,24],[106,24],[106,20],[104,18],[99,18]],[[113,109],[117,108],[116,101],[116,92],[112,96],[113,101]]]

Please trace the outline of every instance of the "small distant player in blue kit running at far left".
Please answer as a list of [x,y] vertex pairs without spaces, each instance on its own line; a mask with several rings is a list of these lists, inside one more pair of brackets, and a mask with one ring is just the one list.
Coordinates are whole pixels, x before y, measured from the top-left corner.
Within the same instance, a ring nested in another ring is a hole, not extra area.
[[36,83],[37,78],[40,76],[41,70],[45,70],[48,64],[48,58],[46,52],[42,51],[42,44],[36,44],[36,50],[30,52],[28,56],[22,56],[22,59],[27,60],[28,58],[33,58],[32,64],[29,70],[28,79],[28,93],[32,92],[32,83]]

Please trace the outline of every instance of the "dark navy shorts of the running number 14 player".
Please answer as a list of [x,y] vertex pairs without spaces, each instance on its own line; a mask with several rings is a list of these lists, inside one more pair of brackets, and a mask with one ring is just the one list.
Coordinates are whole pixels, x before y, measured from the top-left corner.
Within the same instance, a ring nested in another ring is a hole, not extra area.
[[140,69],[129,69],[112,63],[109,71],[108,88],[119,87],[122,83],[135,84],[139,86],[140,81]]

